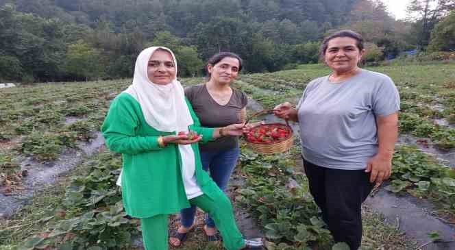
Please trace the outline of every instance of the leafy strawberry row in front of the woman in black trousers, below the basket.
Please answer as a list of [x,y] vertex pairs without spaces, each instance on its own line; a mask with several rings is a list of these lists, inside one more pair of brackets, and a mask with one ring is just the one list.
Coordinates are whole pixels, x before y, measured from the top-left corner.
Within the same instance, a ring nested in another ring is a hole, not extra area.
[[295,162],[288,159],[291,155],[284,156],[258,155],[243,148],[240,175],[245,186],[238,190],[236,201],[264,226],[273,245],[328,248],[332,238],[317,217],[306,179],[295,171]]

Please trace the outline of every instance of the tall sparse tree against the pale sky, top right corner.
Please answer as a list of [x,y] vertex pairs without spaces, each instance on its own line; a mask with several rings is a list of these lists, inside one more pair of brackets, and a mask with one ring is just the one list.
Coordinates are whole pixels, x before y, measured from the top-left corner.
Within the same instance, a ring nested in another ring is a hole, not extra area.
[[413,0],[408,5],[408,17],[415,20],[413,27],[417,45],[424,48],[430,42],[431,30],[443,16],[455,9],[455,0]]

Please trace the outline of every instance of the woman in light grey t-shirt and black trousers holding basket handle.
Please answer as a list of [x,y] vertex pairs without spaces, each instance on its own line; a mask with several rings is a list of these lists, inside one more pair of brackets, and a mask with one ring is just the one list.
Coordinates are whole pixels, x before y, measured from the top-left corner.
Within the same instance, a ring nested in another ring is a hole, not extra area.
[[275,107],[276,116],[299,123],[310,192],[334,240],[353,250],[362,239],[362,202],[391,175],[398,134],[397,88],[358,67],[364,53],[356,32],[328,36],[321,55],[332,73],[310,82],[297,108]]

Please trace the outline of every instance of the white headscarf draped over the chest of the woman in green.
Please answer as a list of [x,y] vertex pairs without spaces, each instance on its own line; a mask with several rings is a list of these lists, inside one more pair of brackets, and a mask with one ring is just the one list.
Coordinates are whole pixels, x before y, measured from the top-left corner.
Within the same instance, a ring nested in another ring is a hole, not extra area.
[[188,131],[193,124],[190,111],[185,103],[185,94],[182,84],[173,79],[170,84],[153,84],[147,74],[149,59],[157,49],[168,51],[177,72],[177,60],[172,51],[166,47],[149,47],[138,55],[134,67],[133,84],[127,92],[140,104],[145,121],[151,127],[162,132]]

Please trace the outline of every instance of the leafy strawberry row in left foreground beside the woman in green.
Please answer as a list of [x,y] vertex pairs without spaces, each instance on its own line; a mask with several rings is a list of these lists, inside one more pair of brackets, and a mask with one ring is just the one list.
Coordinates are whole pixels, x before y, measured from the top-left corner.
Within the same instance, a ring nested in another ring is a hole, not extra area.
[[95,155],[84,164],[86,175],[73,177],[62,207],[53,208],[47,227],[23,247],[36,249],[127,249],[138,236],[139,221],[127,217],[115,185],[121,156]]

